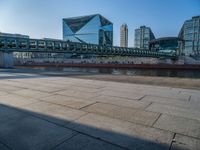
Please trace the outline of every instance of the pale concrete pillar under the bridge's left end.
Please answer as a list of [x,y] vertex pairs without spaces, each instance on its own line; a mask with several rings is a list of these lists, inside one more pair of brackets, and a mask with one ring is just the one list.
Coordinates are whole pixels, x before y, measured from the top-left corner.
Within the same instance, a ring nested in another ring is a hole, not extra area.
[[13,68],[13,53],[12,52],[0,52],[0,67]]

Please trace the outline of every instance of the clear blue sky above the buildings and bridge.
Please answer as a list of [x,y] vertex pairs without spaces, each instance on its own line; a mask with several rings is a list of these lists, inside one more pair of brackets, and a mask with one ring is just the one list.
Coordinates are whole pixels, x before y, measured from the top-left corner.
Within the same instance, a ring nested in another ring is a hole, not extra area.
[[62,18],[100,13],[114,23],[114,45],[119,28],[151,27],[156,38],[177,36],[183,22],[200,15],[200,0],[0,0],[0,31],[31,38],[62,38]]

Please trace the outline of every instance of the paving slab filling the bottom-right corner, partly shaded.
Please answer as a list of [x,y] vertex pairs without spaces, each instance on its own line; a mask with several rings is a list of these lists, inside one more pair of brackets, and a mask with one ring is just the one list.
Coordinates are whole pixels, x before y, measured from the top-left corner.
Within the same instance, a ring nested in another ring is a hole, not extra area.
[[171,150],[199,150],[200,140],[176,134]]

